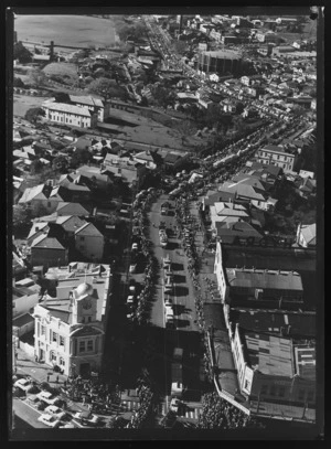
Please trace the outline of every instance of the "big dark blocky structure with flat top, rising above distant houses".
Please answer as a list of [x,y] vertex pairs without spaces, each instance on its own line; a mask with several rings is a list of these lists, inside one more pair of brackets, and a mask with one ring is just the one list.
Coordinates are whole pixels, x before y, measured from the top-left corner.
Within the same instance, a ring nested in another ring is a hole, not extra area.
[[226,73],[238,74],[242,68],[242,56],[233,51],[211,51],[199,54],[199,70],[206,74],[216,73],[223,75]]

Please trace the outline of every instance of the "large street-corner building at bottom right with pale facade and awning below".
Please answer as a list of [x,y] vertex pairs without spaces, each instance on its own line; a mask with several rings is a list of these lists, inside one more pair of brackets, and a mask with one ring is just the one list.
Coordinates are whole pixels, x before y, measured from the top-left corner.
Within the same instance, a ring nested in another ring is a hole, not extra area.
[[[273,409],[273,403],[282,405],[282,415],[292,413],[288,406],[299,406],[300,418],[305,415],[305,407],[316,408],[313,346],[295,344],[284,336],[244,331],[238,324],[232,333],[231,346],[241,393],[250,404],[258,402],[265,410],[268,405]],[[255,413],[259,406],[255,405]]]

